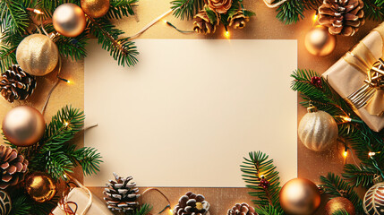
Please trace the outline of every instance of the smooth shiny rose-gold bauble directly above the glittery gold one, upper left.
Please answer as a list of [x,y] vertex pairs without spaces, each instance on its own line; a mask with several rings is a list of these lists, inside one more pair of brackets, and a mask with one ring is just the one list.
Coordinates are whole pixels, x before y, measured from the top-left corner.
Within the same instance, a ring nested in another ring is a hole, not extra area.
[[85,14],[76,4],[61,4],[55,9],[52,22],[57,32],[65,37],[76,37],[85,29]]

